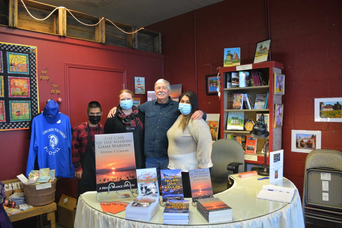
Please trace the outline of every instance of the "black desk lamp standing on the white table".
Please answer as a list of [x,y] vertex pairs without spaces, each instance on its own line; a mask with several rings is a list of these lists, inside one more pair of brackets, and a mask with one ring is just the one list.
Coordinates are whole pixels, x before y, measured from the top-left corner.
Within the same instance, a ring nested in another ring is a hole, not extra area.
[[266,151],[266,138],[269,135],[269,132],[267,131],[267,126],[265,124],[265,118],[264,114],[261,115],[259,120],[257,120],[257,123],[253,126],[252,131],[249,132],[249,134],[253,138],[264,138],[265,144],[264,144],[264,155],[265,155],[265,163],[261,169],[259,169],[258,175],[260,176],[269,176],[269,170],[267,168],[267,151]]

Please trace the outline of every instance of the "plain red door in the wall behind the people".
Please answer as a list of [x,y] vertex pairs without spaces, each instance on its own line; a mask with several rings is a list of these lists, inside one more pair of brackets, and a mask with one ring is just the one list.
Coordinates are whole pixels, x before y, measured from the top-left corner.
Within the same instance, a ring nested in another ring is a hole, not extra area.
[[[66,79],[68,81],[68,108],[71,128],[88,121],[87,107],[96,100],[102,108],[100,123],[104,125],[108,112],[119,104],[118,94],[126,82],[126,71],[85,65],[69,66]],[[70,195],[77,196],[77,179],[70,179]]]

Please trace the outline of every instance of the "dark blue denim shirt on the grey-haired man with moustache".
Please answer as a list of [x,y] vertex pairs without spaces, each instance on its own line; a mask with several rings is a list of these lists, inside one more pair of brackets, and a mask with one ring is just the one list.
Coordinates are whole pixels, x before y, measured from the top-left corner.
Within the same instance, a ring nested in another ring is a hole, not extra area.
[[[171,99],[160,105],[157,100],[148,101],[138,106],[139,111],[145,114],[145,155],[148,158],[168,157],[169,141],[167,131],[181,115],[178,102]],[[204,113],[203,119],[207,119]]]

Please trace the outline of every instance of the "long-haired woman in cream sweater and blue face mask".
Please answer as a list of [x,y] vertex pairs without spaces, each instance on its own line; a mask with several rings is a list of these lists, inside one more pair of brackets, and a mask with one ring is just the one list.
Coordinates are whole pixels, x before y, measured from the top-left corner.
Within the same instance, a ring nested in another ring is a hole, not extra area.
[[194,92],[187,91],[179,96],[181,115],[167,132],[169,140],[169,169],[181,169],[183,193],[191,198],[189,170],[209,168],[212,140],[208,124],[203,120],[191,120],[198,110],[198,99]]

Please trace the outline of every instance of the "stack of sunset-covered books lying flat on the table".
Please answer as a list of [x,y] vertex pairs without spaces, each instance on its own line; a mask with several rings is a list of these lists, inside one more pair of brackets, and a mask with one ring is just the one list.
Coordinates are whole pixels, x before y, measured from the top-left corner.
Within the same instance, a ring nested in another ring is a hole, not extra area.
[[197,200],[197,211],[208,223],[219,223],[233,219],[233,209],[219,198]]

